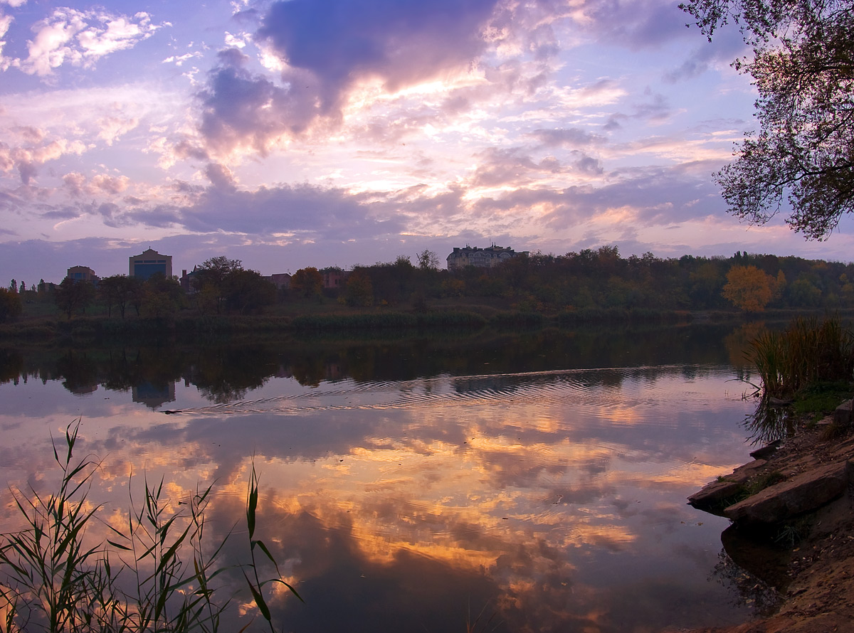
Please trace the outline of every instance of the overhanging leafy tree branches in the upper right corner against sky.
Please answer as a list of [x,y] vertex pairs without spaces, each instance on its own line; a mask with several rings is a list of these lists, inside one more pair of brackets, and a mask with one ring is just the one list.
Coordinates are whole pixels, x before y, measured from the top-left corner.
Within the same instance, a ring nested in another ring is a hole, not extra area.
[[711,39],[734,21],[753,47],[734,62],[754,79],[760,130],[715,174],[729,212],[827,239],[854,211],[854,7],[850,0],[692,0],[680,5]]

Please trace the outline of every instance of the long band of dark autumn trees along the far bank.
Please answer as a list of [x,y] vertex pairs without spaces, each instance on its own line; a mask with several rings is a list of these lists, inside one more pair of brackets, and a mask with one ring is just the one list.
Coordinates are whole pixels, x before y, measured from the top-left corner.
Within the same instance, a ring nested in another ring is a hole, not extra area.
[[[196,266],[190,287],[156,274],[104,277],[97,284],[65,279],[26,289],[13,280],[0,288],[0,321],[20,315],[22,301],[52,301],[68,318],[98,308],[108,317],[258,314],[276,305],[333,303],[353,308],[395,306],[424,310],[439,300],[482,301],[513,311],[649,309],[672,311],[854,307],[854,264],[794,256],[735,253],[732,257],[623,258],[617,247],[579,253],[533,253],[490,269],[440,270],[429,250],[416,260],[356,265],[351,270],[297,270],[290,288],[277,288],[239,259],[214,257]],[[327,287],[325,276],[340,281]],[[13,287],[14,286],[14,287]]]

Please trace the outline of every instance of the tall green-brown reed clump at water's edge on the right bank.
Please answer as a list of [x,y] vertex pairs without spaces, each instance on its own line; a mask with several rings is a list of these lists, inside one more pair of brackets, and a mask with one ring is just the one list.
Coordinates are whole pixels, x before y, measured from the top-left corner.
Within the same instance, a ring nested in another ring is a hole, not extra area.
[[763,397],[793,399],[819,383],[851,383],[854,334],[837,317],[799,317],[783,331],[764,331],[748,352],[756,365]]

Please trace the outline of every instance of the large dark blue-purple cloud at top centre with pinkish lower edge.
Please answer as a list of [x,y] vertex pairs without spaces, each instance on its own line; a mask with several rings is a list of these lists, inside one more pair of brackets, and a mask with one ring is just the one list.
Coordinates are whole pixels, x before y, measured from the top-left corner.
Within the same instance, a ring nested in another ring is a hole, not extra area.
[[[250,73],[232,48],[202,90],[200,131],[214,151],[264,154],[279,136],[320,120],[338,125],[360,83],[386,93],[467,71],[487,48],[484,28],[497,0],[290,0],[273,3],[254,41],[278,58],[278,81]],[[267,63],[269,67],[270,64]]]

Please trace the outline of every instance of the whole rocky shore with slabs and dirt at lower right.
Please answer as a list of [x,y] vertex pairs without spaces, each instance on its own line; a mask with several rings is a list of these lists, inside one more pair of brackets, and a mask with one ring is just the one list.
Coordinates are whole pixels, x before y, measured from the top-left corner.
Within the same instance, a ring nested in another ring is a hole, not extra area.
[[692,633],[854,631],[852,404],[752,453],[689,497],[733,521],[728,555],[779,597],[774,613]]

